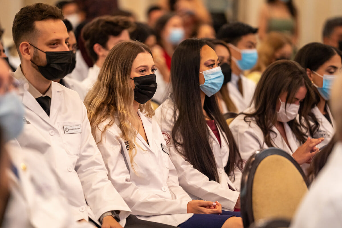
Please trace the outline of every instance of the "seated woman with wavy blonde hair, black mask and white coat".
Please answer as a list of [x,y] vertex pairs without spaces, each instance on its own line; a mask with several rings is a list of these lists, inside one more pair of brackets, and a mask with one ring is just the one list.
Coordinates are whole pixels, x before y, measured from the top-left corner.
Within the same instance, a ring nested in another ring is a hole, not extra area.
[[146,45],[121,42],[87,95],[92,133],[109,179],[141,219],[179,227],[242,227],[241,218],[231,219],[239,213],[221,211],[218,201],[192,200],[179,186],[161,130],[150,119],[155,70]]

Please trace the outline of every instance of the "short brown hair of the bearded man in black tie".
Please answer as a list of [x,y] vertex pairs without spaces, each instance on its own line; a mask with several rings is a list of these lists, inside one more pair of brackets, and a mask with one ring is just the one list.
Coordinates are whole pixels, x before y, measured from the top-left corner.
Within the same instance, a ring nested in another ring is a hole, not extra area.
[[13,40],[17,50],[19,50],[19,45],[23,40],[32,39],[37,35],[35,22],[45,19],[63,20],[64,16],[62,10],[56,6],[43,3],[27,5],[19,10],[14,17],[12,26]]

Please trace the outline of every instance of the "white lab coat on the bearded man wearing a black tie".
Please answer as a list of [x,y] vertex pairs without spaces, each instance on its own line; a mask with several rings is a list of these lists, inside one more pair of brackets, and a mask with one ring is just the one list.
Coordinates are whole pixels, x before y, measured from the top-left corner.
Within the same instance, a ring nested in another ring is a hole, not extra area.
[[[14,76],[20,78],[20,74],[18,67]],[[130,209],[108,180],[86,107],[77,92],[57,82],[51,86],[50,117],[25,86],[19,88],[25,109],[24,129],[17,137],[20,146],[44,155],[68,198],[75,220],[91,217],[97,221],[107,211],[121,210],[120,218],[125,223]],[[80,128],[81,133],[66,134],[66,128]]]

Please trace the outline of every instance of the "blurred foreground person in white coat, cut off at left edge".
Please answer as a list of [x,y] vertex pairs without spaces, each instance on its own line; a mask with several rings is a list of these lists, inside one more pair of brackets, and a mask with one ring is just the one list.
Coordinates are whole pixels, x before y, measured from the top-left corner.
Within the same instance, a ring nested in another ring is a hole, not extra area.
[[92,227],[87,222],[77,223],[69,213],[67,200],[43,153],[23,150],[16,140],[11,140],[23,129],[24,108],[15,94],[15,79],[2,59],[0,78],[1,227]]

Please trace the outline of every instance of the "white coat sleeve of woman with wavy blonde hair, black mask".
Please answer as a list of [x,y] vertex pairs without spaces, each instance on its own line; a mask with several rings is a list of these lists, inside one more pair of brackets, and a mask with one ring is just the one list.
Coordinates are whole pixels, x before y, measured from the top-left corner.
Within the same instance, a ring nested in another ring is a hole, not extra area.
[[[122,155],[122,146],[117,140],[117,135],[106,130],[102,142],[98,143],[97,146],[105,161],[110,181],[120,191],[122,198],[131,208],[132,214],[151,216],[187,213],[187,203],[191,200],[189,197],[183,196],[181,199],[161,198],[155,193],[141,190],[130,182],[130,172],[134,171],[129,171],[126,166],[126,162],[130,163],[130,161],[125,160]],[[172,178],[170,181],[173,182]],[[174,186],[171,186],[171,189],[173,190]]]

